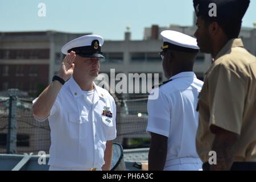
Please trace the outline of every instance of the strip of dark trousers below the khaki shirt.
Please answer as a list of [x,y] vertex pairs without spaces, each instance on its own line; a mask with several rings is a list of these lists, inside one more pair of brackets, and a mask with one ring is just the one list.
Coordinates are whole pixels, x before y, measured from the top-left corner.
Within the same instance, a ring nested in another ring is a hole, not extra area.
[[[203,170],[209,171],[210,164],[204,163]],[[234,162],[230,168],[230,171],[256,171],[256,162]]]

